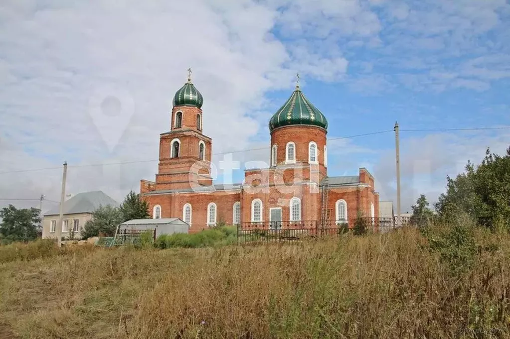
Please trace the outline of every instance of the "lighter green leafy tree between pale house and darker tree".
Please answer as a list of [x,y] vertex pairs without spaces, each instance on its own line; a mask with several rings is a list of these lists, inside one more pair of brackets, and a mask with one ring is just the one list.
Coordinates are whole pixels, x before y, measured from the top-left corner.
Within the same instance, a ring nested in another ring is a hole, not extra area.
[[98,235],[113,237],[117,226],[123,221],[120,208],[110,205],[100,206],[92,212],[92,219],[85,223],[81,231],[82,238],[87,239]]

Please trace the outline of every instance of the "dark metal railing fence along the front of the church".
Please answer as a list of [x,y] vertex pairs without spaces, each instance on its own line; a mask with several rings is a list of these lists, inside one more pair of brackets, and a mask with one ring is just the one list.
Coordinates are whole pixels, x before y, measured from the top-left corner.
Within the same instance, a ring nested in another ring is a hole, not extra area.
[[353,222],[319,220],[243,222],[237,227],[238,243],[298,241],[320,237],[382,234],[410,224],[409,217],[360,218]]

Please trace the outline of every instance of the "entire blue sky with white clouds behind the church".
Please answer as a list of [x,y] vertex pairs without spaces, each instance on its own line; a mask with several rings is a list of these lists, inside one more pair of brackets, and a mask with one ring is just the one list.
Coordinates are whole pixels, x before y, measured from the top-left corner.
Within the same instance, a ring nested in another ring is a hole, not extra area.
[[[133,161],[158,158],[189,67],[213,152],[267,147],[236,153],[242,162],[268,160],[267,122],[296,72],[330,138],[392,130],[395,121],[401,129],[509,126],[509,16],[504,0],[3,2],[0,198],[58,200],[60,168],[13,171],[64,160],[71,193],[101,189],[121,200],[138,191],[157,161]],[[117,122],[101,115],[108,96],[121,103]],[[434,201],[446,175],[487,147],[502,153],[509,131],[402,131],[403,209],[420,193]],[[392,132],[328,145],[330,175],[366,166],[381,198],[394,199]],[[109,165],[119,162],[128,163]]]

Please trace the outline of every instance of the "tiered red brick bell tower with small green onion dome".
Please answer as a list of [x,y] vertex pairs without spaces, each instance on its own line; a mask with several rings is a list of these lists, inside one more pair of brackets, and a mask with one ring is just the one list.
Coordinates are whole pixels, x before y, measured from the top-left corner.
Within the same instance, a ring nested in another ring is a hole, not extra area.
[[157,189],[212,185],[212,139],[202,133],[203,97],[188,81],[174,95],[170,131],[160,135]]

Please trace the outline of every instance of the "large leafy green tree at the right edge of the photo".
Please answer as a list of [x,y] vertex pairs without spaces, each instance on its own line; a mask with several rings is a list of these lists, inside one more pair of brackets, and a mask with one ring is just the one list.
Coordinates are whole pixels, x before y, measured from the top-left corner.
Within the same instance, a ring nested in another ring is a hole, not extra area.
[[504,156],[491,153],[478,166],[468,161],[466,172],[455,179],[447,177],[446,192],[439,196],[436,210],[445,219],[467,213],[480,225],[490,228],[509,226],[510,148]]

